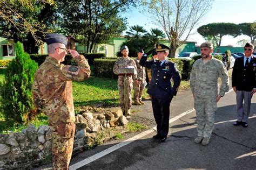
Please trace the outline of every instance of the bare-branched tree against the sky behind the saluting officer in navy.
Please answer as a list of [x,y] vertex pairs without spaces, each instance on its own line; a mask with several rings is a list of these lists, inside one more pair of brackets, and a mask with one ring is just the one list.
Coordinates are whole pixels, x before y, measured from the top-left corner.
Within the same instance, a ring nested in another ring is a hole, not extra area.
[[171,41],[170,56],[174,57],[176,49],[184,44],[194,26],[209,11],[212,1],[145,0],[142,4],[146,7],[144,13],[149,14]]

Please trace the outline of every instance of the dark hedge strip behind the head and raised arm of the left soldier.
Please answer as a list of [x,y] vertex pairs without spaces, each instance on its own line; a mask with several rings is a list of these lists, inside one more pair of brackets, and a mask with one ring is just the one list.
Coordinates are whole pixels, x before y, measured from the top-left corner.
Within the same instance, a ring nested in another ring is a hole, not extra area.
[[[80,53],[80,54],[84,55],[84,57],[88,60],[89,65],[93,65],[94,59],[105,58],[106,56],[103,53],[94,53],[94,54]],[[48,55],[30,54],[30,58],[36,61],[38,63],[38,66],[40,66],[44,62],[46,56]],[[63,63],[64,65],[76,65],[76,61],[72,58],[71,55],[66,55],[65,61]]]

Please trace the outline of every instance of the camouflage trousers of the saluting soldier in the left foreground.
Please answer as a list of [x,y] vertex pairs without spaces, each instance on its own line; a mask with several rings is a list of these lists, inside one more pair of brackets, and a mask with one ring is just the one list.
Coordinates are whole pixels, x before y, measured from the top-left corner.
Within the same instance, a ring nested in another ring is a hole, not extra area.
[[69,169],[76,123],[56,123],[52,130],[53,169]]

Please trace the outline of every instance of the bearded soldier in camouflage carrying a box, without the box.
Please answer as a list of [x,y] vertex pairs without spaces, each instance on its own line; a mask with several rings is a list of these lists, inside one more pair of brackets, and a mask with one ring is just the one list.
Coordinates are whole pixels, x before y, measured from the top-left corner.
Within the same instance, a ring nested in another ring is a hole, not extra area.
[[[113,67],[113,72],[114,74],[118,74],[117,70],[119,68],[124,68],[127,66],[133,66],[136,71],[137,71],[137,66],[136,63],[133,59],[131,59],[128,54],[129,54],[129,49],[127,46],[123,46],[121,49],[121,53],[123,54],[123,56],[118,59],[115,63],[114,63],[114,67]],[[123,114],[125,112],[125,106],[124,106],[124,98],[127,97],[128,100],[128,110],[127,110],[127,115],[130,116],[131,115],[131,107],[132,107],[132,88],[133,88],[133,81],[135,81],[136,83],[138,83],[137,80],[137,75],[127,75],[128,80],[129,80],[129,84],[128,84],[128,96],[124,95],[124,75],[119,75],[118,76],[118,80],[117,80],[117,86],[118,86],[118,90],[119,90],[119,97],[120,97],[120,107],[123,111]]]

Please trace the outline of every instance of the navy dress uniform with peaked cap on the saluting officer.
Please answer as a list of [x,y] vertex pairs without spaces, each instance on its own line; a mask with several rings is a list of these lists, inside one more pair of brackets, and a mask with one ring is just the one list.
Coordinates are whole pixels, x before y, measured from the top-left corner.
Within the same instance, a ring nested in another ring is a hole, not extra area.
[[[156,51],[164,52],[169,49],[165,45],[158,44]],[[153,138],[164,141],[169,132],[170,102],[172,97],[177,94],[180,75],[176,63],[168,59],[162,61],[163,63],[159,60],[147,61],[148,55],[149,52],[144,54],[139,64],[143,67],[151,68],[152,80],[147,93],[152,96],[153,114],[157,123],[157,135]],[[173,87],[171,84],[172,79],[174,82]]]

